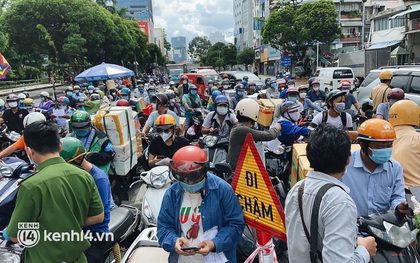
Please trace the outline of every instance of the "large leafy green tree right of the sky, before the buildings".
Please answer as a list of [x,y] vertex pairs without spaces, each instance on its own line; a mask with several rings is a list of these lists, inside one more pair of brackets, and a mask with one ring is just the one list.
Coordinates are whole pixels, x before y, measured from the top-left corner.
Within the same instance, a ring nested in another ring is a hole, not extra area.
[[337,11],[329,0],[294,6],[286,3],[270,14],[262,28],[263,42],[303,57],[306,49],[317,41],[330,44],[340,37],[336,19]]

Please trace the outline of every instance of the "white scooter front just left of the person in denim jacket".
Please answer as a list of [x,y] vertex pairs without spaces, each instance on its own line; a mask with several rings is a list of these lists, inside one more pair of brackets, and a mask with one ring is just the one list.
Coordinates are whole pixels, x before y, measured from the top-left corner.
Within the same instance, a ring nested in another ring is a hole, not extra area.
[[140,174],[140,179],[147,186],[141,204],[141,222],[139,229],[157,226],[163,196],[174,181],[168,166],[156,166]]

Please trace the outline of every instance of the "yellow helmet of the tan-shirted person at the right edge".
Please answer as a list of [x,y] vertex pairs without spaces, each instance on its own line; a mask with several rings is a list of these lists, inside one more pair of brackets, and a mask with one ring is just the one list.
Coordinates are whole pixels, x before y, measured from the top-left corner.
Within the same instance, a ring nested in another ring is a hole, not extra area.
[[411,100],[399,100],[392,104],[388,114],[392,126],[420,125],[420,107]]

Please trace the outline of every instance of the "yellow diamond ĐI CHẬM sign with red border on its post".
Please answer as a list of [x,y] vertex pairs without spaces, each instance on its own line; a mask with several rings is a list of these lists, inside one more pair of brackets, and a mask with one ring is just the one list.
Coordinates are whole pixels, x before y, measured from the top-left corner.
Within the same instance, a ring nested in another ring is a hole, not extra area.
[[272,236],[286,242],[284,211],[251,134],[242,147],[232,187],[245,223],[257,230],[257,249],[245,262],[252,262],[256,255],[260,262],[277,262]]

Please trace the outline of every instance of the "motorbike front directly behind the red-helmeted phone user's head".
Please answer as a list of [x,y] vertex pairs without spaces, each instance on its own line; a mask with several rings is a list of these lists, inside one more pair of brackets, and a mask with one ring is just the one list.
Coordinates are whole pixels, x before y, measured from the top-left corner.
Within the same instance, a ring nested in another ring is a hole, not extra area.
[[203,149],[209,160],[209,170],[215,171],[215,165],[226,163],[229,149],[229,137],[221,137],[217,134],[210,134],[201,137],[198,145]]

